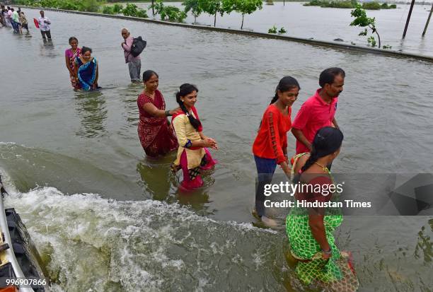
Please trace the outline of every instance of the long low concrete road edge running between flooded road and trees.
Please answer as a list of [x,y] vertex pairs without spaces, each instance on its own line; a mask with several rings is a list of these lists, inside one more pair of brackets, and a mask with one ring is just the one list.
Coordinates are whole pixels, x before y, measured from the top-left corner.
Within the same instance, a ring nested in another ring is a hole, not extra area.
[[45,11],[56,11],[56,12],[63,12],[63,13],[74,13],[74,14],[81,14],[81,15],[87,15],[87,16],[100,16],[105,18],[117,18],[117,19],[124,19],[127,21],[141,21],[146,23],[156,23],[161,25],[173,25],[183,28],[193,28],[193,29],[199,29],[199,30],[212,30],[217,31],[220,33],[233,33],[237,35],[248,35],[253,37],[262,37],[267,39],[275,39],[275,40],[287,40],[291,42],[301,42],[307,45],[313,45],[313,46],[320,46],[320,47],[330,47],[333,49],[348,49],[351,51],[358,51],[358,52],[367,52],[370,54],[382,54],[386,56],[391,57],[403,57],[403,58],[412,58],[427,62],[433,63],[433,56],[427,56],[423,54],[412,54],[412,53],[405,53],[405,52],[399,52],[392,49],[375,49],[372,47],[364,47],[364,46],[357,46],[357,45],[348,45],[348,44],[342,44],[340,42],[328,42],[325,40],[313,40],[313,39],[306,39],[302,37],[290,37],[288,35],[274,35],[271,33],[258,33],[254,31],[248,31],[248,30],[236,30],[232,28],[214,28],[213,26],[207,26],[207,25],[194,25],[194,24],[188,24],[188,23],[172,23],[169,21],[158,21],[156,19],[149,19],[149,18],[138,18],[138,17],[132,17],[132,16],[120,16],[120,15],[110,15],[110,14],[103,14],[103,13],[93,13],[93,12],[85,12],[85,11],[71,11],[71,10],[64,10],[64,9],[55,9],[55,8],[37,8],[37,7],[28,7],[23,6],[23,8],[29,8],[29,9],[43,9]]

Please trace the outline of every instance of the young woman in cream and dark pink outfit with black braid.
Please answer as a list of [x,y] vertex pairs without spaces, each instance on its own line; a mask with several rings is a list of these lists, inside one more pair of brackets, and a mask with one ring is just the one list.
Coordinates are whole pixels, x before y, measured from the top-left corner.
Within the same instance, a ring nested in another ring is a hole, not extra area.
[[217,141],[203,134],[202,123],[194,105],[197,101],[198,89],[185,83],[176,93],[176,101],[180,110],[172,117],[173,127],[178,137],[178,157],[173,162],[174,172],[183,170],[183,189],[196,189],[203,185],[201,170],[211,169],[215,161],[207,148],[218,149]]

